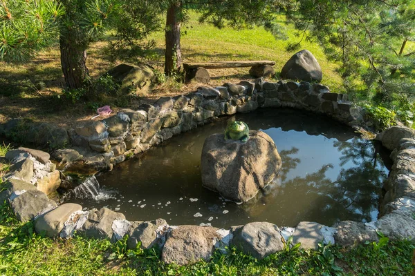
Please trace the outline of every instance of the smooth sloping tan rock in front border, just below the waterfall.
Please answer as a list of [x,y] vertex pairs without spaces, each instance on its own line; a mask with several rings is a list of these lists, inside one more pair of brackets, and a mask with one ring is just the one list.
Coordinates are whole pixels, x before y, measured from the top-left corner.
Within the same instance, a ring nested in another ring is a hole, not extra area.
[[37,233],[46,233],[48,237],[57,237],[64,228],[64,223],[76,211],[82,210],[79,204],[67,203],[58,206],[35,220]]

